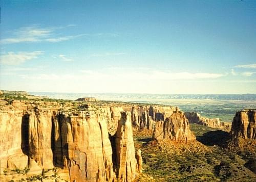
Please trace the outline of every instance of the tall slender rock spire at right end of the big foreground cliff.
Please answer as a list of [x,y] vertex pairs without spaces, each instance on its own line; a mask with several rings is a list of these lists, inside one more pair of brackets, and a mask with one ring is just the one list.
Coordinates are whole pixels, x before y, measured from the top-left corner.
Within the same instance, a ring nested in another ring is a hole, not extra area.
[[122,112],[121,115],[115,134],[117,178],[129,182],[136,177],[137,161],[130,113]]

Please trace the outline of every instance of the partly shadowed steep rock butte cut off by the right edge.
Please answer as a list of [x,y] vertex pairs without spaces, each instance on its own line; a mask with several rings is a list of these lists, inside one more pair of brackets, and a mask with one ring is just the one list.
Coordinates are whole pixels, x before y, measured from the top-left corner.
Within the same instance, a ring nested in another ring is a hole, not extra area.
[[237,111],[230,134],[234,139],[256,139],[256,110]]

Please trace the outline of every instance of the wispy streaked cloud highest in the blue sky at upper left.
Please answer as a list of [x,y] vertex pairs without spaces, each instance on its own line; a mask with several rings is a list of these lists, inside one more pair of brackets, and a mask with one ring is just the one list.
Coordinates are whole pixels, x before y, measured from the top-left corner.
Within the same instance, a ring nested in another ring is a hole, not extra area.
[[[71,27],[71,25],[69,26]],[[73,25],[74,27],[74,25]],[[10,31],[12,36],[9,38],[4,38],[0,40],[1,44],[12,44],[20,42],[60,42],[70,39],[74,39],[81,36],[86,36],[88,34],[79,34],[71,36],[59,36],[56,35],[56,30],[58,28],[38,28],[35,25],[31,27],[23,27],[15,31]]]

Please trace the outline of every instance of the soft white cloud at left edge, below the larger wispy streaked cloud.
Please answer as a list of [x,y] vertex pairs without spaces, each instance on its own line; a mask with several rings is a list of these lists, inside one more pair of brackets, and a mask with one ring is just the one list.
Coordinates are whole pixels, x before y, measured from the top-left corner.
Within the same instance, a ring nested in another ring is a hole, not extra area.
[[43,51],[33,51],[33,52],[18,52],[13,53],[9,52],[6,55],[1,56],[1,64],[4,65],[19,65],[24,63],[25,61],[35,59],[37,56],[42,55]]

